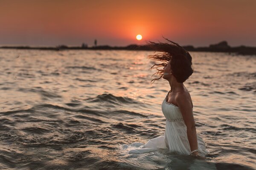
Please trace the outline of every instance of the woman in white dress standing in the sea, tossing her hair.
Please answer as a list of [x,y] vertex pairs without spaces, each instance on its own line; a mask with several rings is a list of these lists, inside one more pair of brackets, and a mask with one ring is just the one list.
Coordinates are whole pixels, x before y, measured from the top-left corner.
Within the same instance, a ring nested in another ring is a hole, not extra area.
[[180,45],[168,41],[171,44],[148,42],[149,48],[162,52],[148,56],[154,61],[162,62],[155,63],[151,69],[163,67],[163,69],[157,69],[158,72],[155,73],[161,76],[151,82],[154,83],[155,80],[163,77],[171,87],[162,103],[162,111],[166,117],[165,134],[148,140],[146,144],[134,143],[140,148],[130,150],[129,153],[147,153],[158,149],[168,149],[172,153],[205,159],[206,146],[202,137],[196,133],[192,99],[183,84],[193,73],[192,57]]

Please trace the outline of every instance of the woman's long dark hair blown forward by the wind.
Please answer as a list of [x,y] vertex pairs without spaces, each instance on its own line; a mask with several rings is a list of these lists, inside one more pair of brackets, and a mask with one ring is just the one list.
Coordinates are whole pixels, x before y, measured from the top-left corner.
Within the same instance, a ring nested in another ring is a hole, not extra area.
[[[163,36],[162,36],[163,37]],[[167,38],[163,37],[167,41],[171,43],[163,43],[163,42],[147,42],[147,47],[154,50],[154,55],[148,55],[147,58],[156,61],[160,61],[162,63],[154,63],[154,65],[150,69],[157,69],[157,72],[154,73],[151,77],[155,74],[159,74],[160,77],[152,79],[151,84],[154,83],[155,80],[160,79],[163,77],[163,68],[166,67],[167,63],[170,59],[171,67],[172,67],[172,74],[177,79],[177,82],[184,82],[186,79],[189,78],[190,75],[193,73],[192,65],[192,57],[190,56],[189,52],[186,51],[183,47],[181,47],[178,43],[168,40]],[[156,51],[160,51],[162,53],[155,54]],[[161,69],[158,69],[161,68]]]

